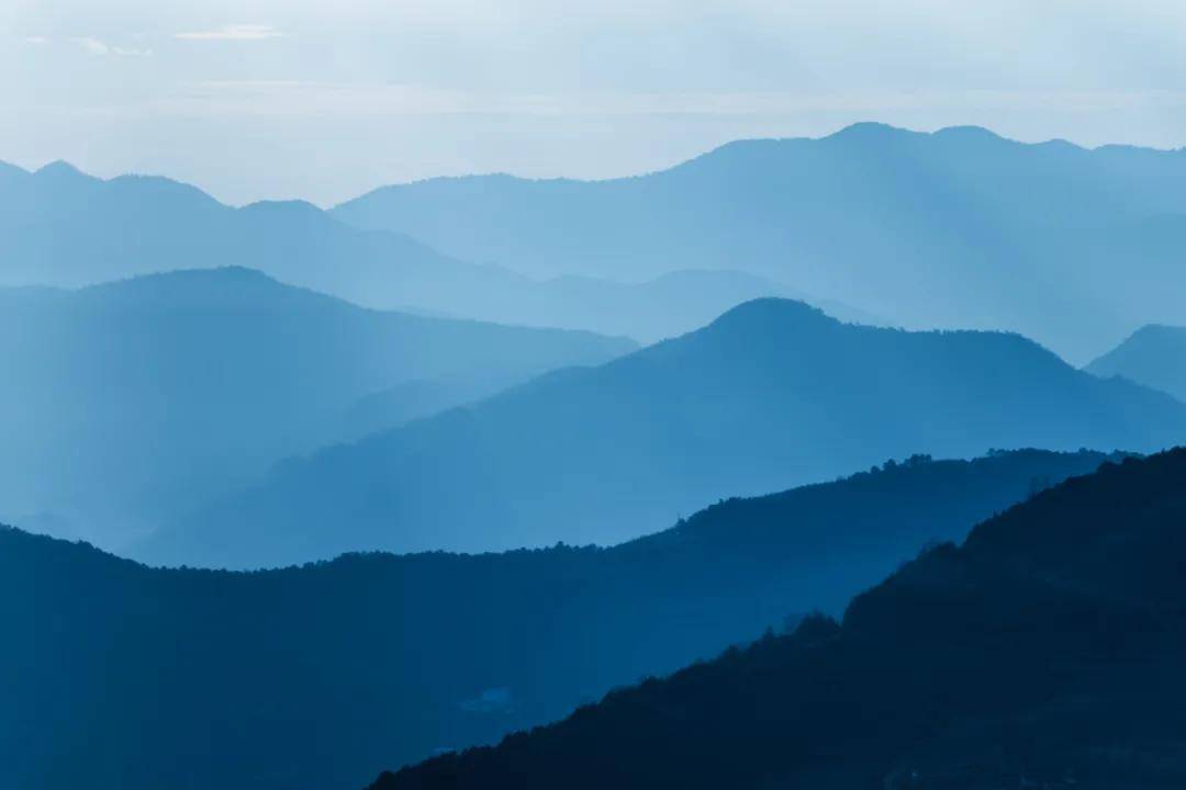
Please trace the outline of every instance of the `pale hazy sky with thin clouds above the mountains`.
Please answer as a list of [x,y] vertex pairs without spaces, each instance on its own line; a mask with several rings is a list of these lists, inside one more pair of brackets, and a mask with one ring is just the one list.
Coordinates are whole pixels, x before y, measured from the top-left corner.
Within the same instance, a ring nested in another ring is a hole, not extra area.
[[1180,0],[0,0],[0,160],[323,206],[857,121],[1186,146]]

